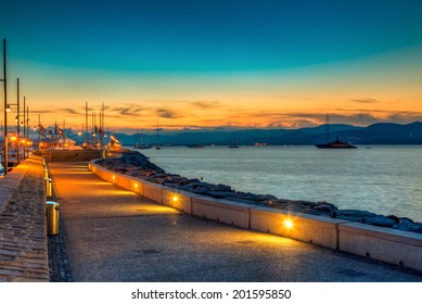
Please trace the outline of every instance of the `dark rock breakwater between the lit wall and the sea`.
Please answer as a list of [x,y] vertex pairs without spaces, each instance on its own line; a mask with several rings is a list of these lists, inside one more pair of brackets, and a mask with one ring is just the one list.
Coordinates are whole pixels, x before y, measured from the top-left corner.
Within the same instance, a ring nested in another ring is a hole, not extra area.
[[137,151],[124,152],[119,157],[99,160],[97,164],[116,173],[195,194],[422,233],[422,223],[415,223],[407,217],[385,216],[359,210],[338,210],[328,202],[294,201],[271,194],[241,192],[227,185],[208,183],[197,178],[166,173]]

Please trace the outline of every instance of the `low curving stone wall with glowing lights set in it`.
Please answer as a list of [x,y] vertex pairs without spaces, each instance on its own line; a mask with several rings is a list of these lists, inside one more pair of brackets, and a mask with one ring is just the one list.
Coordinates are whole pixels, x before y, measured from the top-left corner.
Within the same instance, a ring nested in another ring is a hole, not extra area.
[[95,161],[89,163],[89,169],[104,180],[194,216],[422,271],[421,233],[203,197],[112,172]]

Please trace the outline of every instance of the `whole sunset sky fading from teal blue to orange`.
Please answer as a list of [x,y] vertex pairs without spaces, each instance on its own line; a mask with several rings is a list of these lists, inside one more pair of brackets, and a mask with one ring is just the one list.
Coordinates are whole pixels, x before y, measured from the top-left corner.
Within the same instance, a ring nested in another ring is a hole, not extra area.
[[421,15],[419,0],[0,0],[8,100],[20,78],[29,124],[75,130],[86,102],[90,124],[104,103],[106,127],[127,132],[327,113],[407,124],[422,121]]

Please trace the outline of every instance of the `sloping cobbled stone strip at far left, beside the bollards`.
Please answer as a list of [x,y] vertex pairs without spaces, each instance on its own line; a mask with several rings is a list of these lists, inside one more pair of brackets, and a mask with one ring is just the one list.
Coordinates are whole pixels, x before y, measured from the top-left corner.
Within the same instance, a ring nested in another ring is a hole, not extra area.
[[0,282],[50,281],[42,159],[0,180]]

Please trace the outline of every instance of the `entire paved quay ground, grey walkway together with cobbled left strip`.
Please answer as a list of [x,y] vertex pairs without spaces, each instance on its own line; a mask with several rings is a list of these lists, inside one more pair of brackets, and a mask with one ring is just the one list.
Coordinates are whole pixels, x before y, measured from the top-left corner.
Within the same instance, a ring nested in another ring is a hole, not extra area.
[[30,157],[11,174],[0,211],[0,281],[422,281],[405,267],[181,213],[102,180],[87,162],[49,167],[60,235],[46,236],[41,160]]

